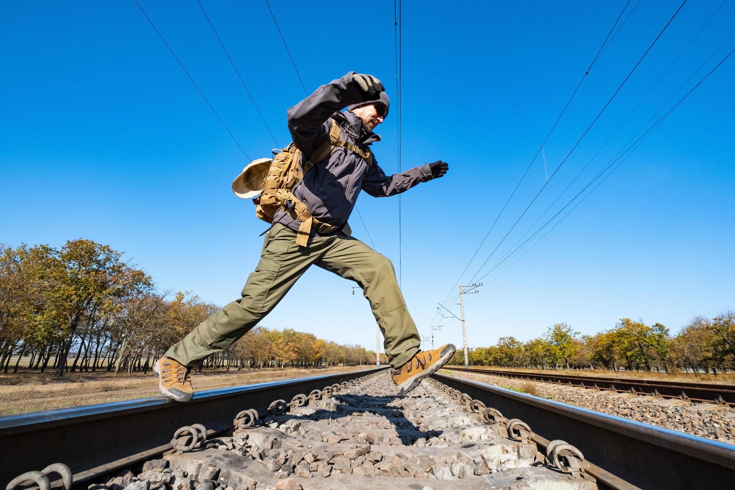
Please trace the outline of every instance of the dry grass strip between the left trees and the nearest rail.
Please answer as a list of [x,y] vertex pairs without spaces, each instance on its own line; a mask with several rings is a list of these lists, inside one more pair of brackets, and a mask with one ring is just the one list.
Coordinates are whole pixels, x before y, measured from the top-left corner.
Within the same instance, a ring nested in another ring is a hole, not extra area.
[[[320,369],[265,369],[244,371],[207,371],[194,373],[194,389],[218,389],[245,384],[304,378],[336,372],[368,369],[365,367],[330,367]],[[69,373],[59,379],[51,374],[33,373],[17,384],[0,381],[0,415],[24,414],[76,406],[109,403],[158,395],[158,385],[152,372],[147,375],[121,373]],[[5,375],[11,376],[11,375]]]

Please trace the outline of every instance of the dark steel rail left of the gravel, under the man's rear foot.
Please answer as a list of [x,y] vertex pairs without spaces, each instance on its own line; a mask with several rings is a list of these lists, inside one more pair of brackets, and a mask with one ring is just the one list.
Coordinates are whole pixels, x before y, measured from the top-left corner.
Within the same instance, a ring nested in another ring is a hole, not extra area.
[[196,392],[188,403],[152,397],[0,417],[0,483],[61,461],[77,486],[170,450],[174,431],[184,425],[201,423],[212,436],[232,428],[245,408],[265,412],[273,400],[384,369],[212,389]]

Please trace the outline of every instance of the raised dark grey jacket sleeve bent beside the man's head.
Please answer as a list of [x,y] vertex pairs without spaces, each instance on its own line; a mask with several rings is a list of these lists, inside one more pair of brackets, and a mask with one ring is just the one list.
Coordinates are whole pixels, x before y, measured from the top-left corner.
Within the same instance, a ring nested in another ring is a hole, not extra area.
[[288,109],[288,130],[293,143],[304,154],[311,154],[323,140],[323,134],[329,130],[329,126],[324,124],[329,116],[345,106],[365,100],[365,93],[352,80],[354,73],[350,71],[342,78],[322,85],[312,95]]

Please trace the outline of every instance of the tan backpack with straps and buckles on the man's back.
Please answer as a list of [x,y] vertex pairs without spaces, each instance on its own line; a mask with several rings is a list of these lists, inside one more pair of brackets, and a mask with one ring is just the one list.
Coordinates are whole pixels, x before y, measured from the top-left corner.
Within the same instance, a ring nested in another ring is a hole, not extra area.
[[[304,179],[304,176],[312,169],[315,162],[321,162],[328,158],[332,149],[336,146],[347,148],[357,156],[367,160],[368,166],[373,162],[370,150],[362,151],[356,145],[341,140],[339,124],[334,119],[330,119],[330,123],[328,136],[308,159],[306,159],[306,155],[302,156],[301,150],[296,148],[293,143],[290,143],[276,154],[273,160],[270,161],[268,175],[265,176],[262,184],[262,192],[253,199],[256,204],[255,215],[261,220],[273,223],[273,216],[279,209],[283,209],[295,220],[300,220],[301,226],[298,227],[296,244],[302,247],[306,247],[312,227],[323,234],[334,233],[339,227],[323,223],[313,217],[309,213],[309,209],[306,209],[306,205],[295,198],[291,192],[293,187],[301,179]],[[301,160],[304,159],[306,159],[306,162],[301,164]]]

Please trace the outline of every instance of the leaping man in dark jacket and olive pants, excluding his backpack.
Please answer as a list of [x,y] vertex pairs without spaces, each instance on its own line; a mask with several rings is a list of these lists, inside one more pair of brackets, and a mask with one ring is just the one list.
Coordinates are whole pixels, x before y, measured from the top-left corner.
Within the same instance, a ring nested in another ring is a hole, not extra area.
[[[340,112],[345,106],[348,109]],[[456,351],[451,344],[420,350],[420,336],[406,309],[392,263],[344,230],[360,190],[374,197],[396,195],[419,182],[443,176],[449,168],[439,161],[386,176],[369,147],[380,141],[373,129],[383,122],[389,108],[379,79],[350,72],[288,109],[288,129],[304,161],[326,139],[331,120],[340,127],[338,143],[343,145],[333,145],[329,156],[315,162],[292,190],[315,222],[326,226],[312,228],[306,246],[297,245],[301,221],[293,212],[276,212],[275,224],[263,242],[260,262],[248,277],[242,298],[198,325],[154,365],[162,394],[181,402],[191,400],[194,391],[190,368],[229,347],[257,325],[312,264],[362,287],[383,333],[385,353],[394,368],[392,379],[400,394],[414,389],[451,359]],[[320,229],[328,232],[320,233]],[[295,318],[329,308],[323,295],[309,299],[314,308],[295,312]]]

